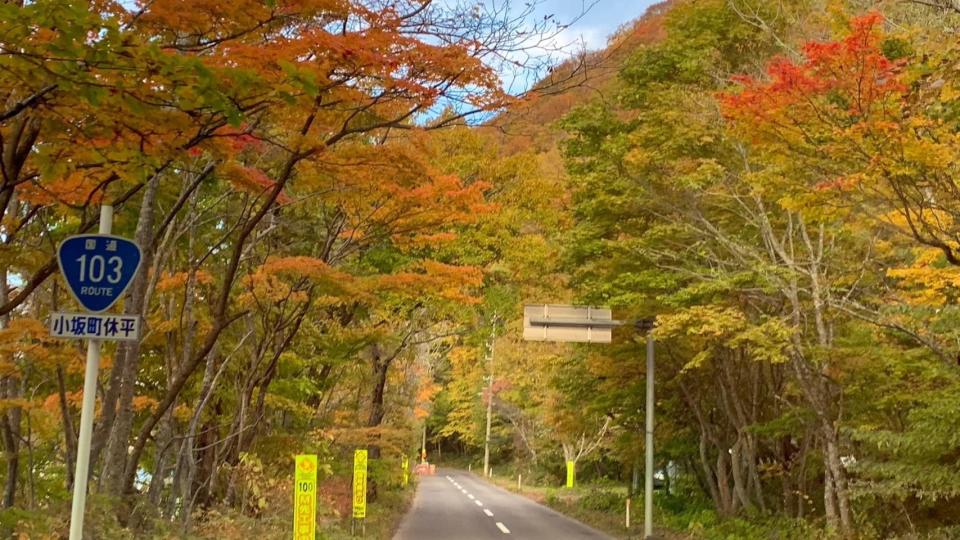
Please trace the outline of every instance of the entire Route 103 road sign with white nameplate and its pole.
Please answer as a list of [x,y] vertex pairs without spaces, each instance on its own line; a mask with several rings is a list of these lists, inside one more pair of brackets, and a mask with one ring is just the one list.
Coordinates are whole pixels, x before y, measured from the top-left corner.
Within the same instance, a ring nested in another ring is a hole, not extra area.
[[70,540],[83,539],[83,514],[87,503],[90,470],[90,440],[97,401],[97,375],[100,372],[100,344],[108,341],[140,339],[140,317],[111,315],[110,309],[126,292],[143,260],[135,243],[111,236],[113,207],[100,207],[99,234],[82,234],[64,240],[57,249],[57,262],[67,288],[88,313],[53,313],[50,335],[65,339],[87,340],[87,365],[83,376],[83,404],[80,407],[80,433],[74,473],[73,501],[70,510]]

